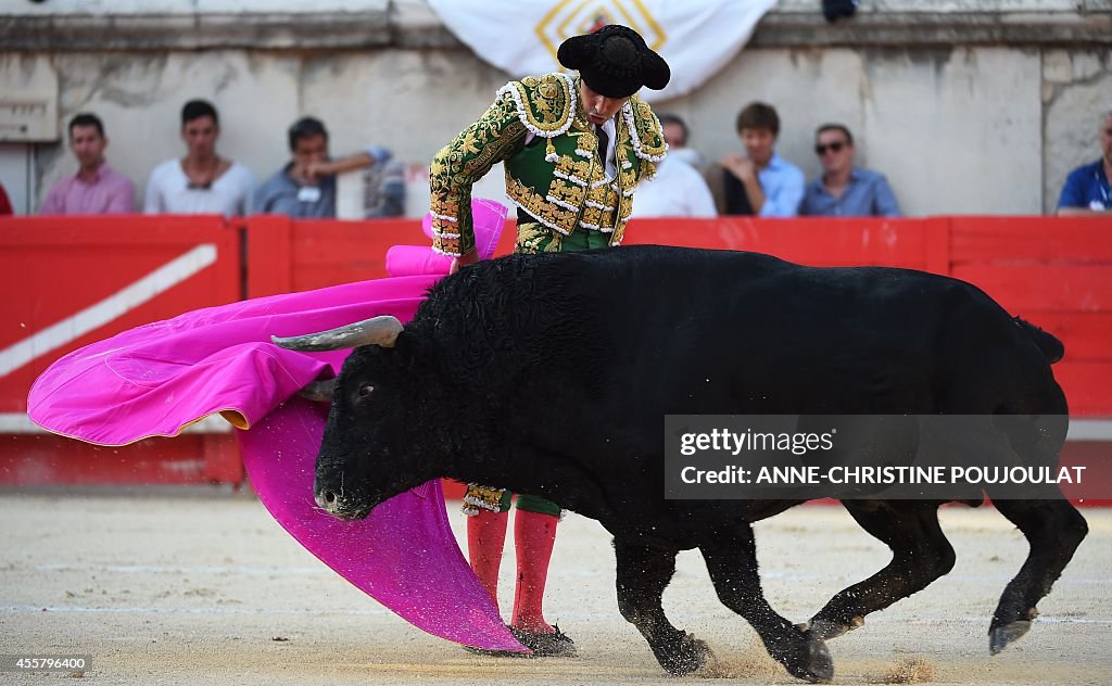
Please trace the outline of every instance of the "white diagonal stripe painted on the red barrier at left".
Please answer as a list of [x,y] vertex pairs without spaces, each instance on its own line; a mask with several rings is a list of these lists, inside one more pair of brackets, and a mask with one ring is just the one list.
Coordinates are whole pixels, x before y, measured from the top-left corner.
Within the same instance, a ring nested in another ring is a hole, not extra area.
[[0,350],[0,377],[152,300],[159,294],[216,262],[216,257],[215,245],[201,243],[100,302]]

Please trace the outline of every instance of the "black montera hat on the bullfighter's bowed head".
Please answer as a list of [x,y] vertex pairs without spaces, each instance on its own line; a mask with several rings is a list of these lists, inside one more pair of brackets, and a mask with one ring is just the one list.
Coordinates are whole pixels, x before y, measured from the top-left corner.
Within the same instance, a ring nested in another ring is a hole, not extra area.
[[672,77],[668,63],[639,33],[616,23],[565,40],[556,59],[577,70],[590,90],[607,98],[626,98],[642,86],[661,90]]

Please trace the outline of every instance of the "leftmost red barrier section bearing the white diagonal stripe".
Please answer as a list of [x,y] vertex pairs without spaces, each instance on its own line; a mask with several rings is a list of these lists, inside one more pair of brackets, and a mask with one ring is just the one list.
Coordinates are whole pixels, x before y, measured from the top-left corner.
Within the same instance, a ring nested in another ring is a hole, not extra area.
[[33,433],[24,414],[31,382],[62,355],[238,300],[240,242],[222,217],[0,221],[0,484],[242,480],[230,433],[99,448]]

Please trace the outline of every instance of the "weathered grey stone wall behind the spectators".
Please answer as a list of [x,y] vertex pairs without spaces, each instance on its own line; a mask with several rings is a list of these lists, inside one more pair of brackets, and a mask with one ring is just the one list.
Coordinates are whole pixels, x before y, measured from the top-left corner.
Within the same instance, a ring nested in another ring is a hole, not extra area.
[[[0,0],[0,87],[46,69],[59,132],[98,112],[110,161],[141,187],[181,155],[189,98],[217,105],[221,152],[264,177],[287,159],[285,130],[302,115],[325,120],[334,153],[377,142],[424,166],[508,78],[420,0],[309,4]],[[716,159],[739,149],[741,107],[766,100],[783,120],[778,150],[808,177],[815,126],[844,122],[910,215],[1049,211],[1069,170],[1099,156],[1112,2],[877,0],[833,26],[817,6],[782,0],[721,72],[657,110],[685,117]],[[61,141],[36,145],[36,203],[72,169]]]

